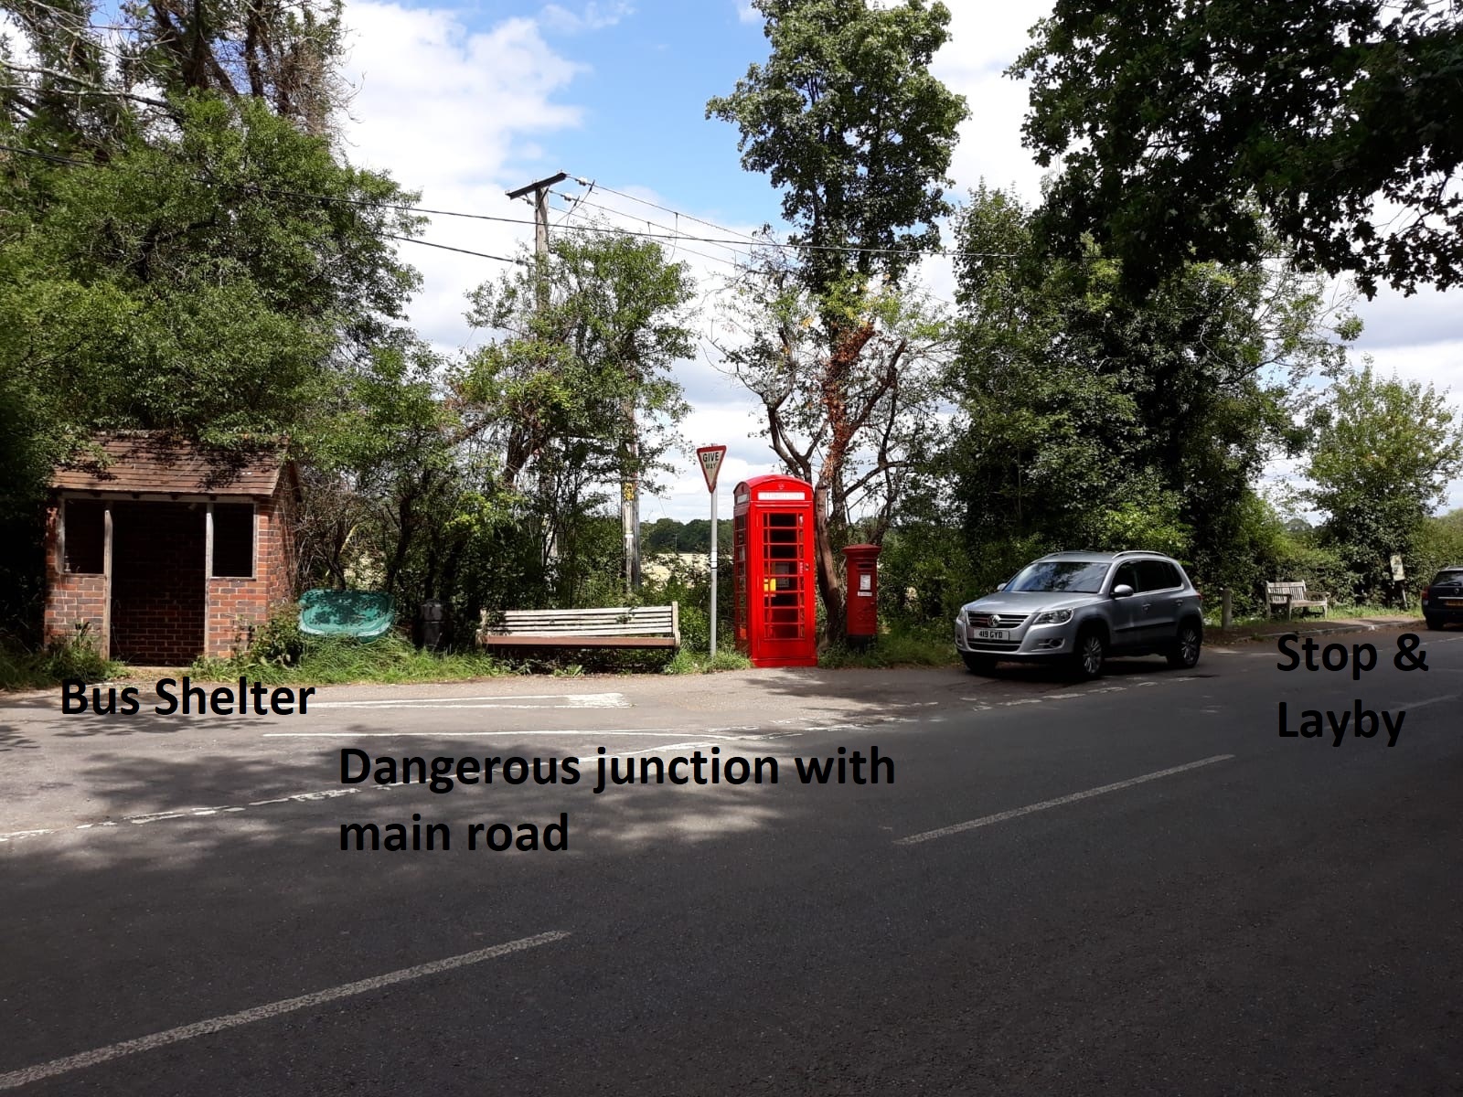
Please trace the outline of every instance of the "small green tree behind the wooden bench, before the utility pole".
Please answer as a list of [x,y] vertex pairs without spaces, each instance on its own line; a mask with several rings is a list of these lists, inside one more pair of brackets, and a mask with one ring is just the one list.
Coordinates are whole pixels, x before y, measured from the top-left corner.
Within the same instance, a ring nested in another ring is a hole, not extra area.
[[[493,470],[480,518],[496,522],[515,508],[521,528],[541,531],[544,566],[556,554],[560,569],[575,566],[579,519],[606,502],[607,484],[645,483],[666,468],[688,411],[672,366],[693,351],[692,297],[683,263],[609,231],[560,237],[543,275],[525,260],[474,291],[468,322],[500,338],[449,373],[449,401],[461,440]],[[560,578],[560,597],[572,597],[575,576]]]

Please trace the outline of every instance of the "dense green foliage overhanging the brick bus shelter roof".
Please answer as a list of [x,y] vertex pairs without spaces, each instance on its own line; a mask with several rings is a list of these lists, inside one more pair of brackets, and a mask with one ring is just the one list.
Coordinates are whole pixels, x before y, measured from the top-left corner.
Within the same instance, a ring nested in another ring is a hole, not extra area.
[[[0,607],[34,616],[41,497],[98,430],[307,455],[383,345],[415,275],[415,219],[382,176],[253,101],[189,99],[178,126],[94,167],[0,161]],[[0,129],[4,123],[0,121]],[[284,197],[310,192],[339,202]],[[351,427],[354,429],[354,427]]]

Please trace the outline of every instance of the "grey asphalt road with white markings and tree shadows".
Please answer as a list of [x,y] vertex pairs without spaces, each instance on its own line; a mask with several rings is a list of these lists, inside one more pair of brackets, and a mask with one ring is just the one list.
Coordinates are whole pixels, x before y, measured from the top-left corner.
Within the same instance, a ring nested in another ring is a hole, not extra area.
[[[1397,636],[1318,641],[1374,644],[1359,682],[1267,644],[1080,686],[514,679],[192,718],[7,699],[0,1091],[1463,1093],[1463,635],[1423,633],[1426,671],[1393,666]],[[1280,702],[1299,727],[1358,699],[1406,711],[1394,746],[1279,734]],[[594,793],[601,746],[771,756],[780,781]],[[894,783],[799,783],[794,758],[840,746]],[[341,747],[585,777],[342,785]],[[566,851],[467,848],[560,812]],[[341,851],[342,822],[413,813],[452,848]]]

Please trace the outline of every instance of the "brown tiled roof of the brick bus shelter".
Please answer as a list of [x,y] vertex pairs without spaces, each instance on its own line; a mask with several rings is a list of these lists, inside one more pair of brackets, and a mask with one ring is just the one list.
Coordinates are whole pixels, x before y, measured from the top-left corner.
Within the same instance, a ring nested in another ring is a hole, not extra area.
[[97,439],[107,455],[57,468],[51,487],[67,491],[152,491],[170,494],[269,496],[279,483],[284,453],[206,449],[159,434],[120,433]]

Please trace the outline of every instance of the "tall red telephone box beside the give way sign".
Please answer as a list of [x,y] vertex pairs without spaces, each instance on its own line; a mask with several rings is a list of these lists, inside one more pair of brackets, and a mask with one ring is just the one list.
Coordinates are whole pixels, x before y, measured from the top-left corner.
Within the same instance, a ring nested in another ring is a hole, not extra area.
[[816,667],[812,484],[752,477],[733,502],[737,651],[753,667]]

